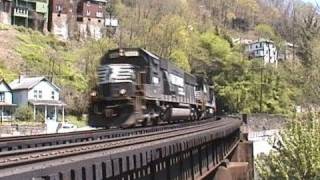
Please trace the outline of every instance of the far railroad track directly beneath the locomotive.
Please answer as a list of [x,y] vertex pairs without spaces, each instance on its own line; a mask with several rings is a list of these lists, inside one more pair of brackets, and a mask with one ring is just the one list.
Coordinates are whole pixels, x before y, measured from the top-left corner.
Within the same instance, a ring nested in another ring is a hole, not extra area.
[[165,124],[156,127],[144,127],[134,129],[100,129],[89,131],[78,131],[62,134],[41,134],[32,136],[17,136],[0,138],[0,153],[7,151],[17,151],[22,149],[39,148],[47,146],[56,146],[61,144],[72,144],[78,142],[96,141],[104,139],[112,139],[124,136],[134,136],[147,134],[151,132],[164,131],[169,129],[177,129],[198,125],[206,121],[197,121],[183,124]]

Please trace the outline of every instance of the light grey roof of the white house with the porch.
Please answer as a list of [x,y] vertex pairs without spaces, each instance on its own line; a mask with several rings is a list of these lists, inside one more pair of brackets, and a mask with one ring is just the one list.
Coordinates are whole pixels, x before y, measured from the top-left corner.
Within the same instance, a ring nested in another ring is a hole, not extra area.
[[32,89],[34,86],[39,84],[41,81],[49,82],[54,88],[60,91],[60,88],[55,84],[51,83],[47,78],[44,76],[40,77],[21,77],[16,79],[10,83],[10,87],[12,90],[25,90],[25,89]]

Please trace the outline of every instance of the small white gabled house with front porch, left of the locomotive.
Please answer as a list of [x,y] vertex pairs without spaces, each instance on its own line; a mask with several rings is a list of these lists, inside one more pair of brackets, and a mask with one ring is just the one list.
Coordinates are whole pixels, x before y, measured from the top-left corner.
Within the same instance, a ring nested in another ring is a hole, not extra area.
[[60,89],[45,77],[23,77],[10,83],[13,103],[18,106],[30,105],[33,108],[34,120],[43,116],[49,120],[64,121],[64,106],[60,101]]

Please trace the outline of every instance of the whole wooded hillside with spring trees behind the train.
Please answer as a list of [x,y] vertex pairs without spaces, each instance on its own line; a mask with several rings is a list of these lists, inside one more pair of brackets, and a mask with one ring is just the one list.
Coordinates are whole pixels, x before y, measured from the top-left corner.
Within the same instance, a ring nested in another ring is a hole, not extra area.
[[[0,42],[9,42],[0,46],[8,52],[0,57],[1,75],[47,75],[63,87],[69,112],[80,115],[99,58],[117,46],[142,47],[206,76],[227,112],[288,114],[295,105],[319,103],[318,7],[299,0],[114,0],[106,11],[120,27],[97,41],[60,42],[1,26]],[[275,68],[249,60],[233,38],[266,38],[280,50],[285,42],[297,48],[294,59]]]

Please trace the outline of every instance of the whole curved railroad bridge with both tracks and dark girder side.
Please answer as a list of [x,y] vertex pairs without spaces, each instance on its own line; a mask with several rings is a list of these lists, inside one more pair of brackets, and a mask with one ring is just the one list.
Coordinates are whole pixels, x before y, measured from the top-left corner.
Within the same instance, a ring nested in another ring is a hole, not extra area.
[[252,179],[239,118],[0,139],[0,179]]

